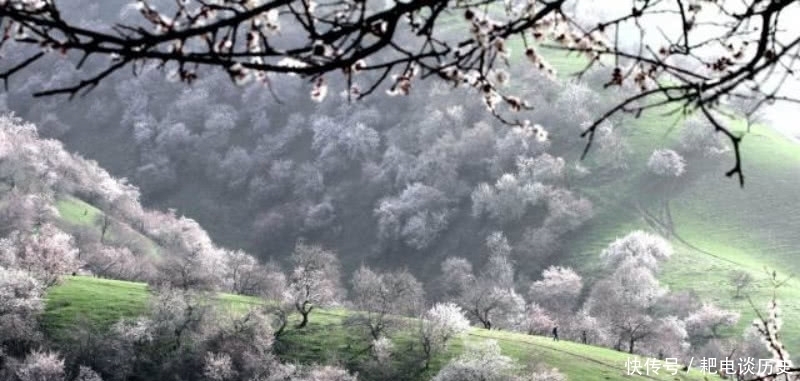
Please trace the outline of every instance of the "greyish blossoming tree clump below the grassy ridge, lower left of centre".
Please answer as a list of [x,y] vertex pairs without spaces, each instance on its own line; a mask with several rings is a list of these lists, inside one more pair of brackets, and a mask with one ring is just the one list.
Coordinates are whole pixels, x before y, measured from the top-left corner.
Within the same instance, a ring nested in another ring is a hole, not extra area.
[[267,306],[232,311],[203,294],[160,289],[147,313],[115,323],[93,360],[103,375],[148,379],[289,380],[296,366],[273,353]]

